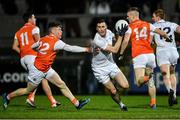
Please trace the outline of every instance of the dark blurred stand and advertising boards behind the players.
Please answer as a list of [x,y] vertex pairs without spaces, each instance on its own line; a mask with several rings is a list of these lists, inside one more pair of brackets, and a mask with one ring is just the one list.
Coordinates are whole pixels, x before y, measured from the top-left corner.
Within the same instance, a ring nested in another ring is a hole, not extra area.
[[[106,19],[108,28],[114,31],[114,24],[126,18],[129,7],[139,7],[141,18],[151,21],[152,12],[163,8],[167,20],[180,24],[180,0],[0,0],[0,93],[25,87],[27,72],[21,67],[19,55],[11,48],[15,32],[24,24],[23,13],[33,11],[37,17],[41,36],[47,33],[51,21],[63,25],[62,40],[71,45],[89,46],[95,35],[95,20]],[[176,35],[177,48],[180,53],[180,35]],[[75,94],[104,94],[105,90],[94,78],[91,70],[91,54],[69,53],[60,51],[53,68],[60,74],[68,87]],[[114,59],[128,78],[130,89],[126,94],[147,93],[147,88],[137,88],[131,65],[130,46],[125,52],[124,60],[119,63]],[[176,67],[178,94],[180,92],[180,62]],[[163,85],[159,69],[155,69],[157,92],[163,94]],[[41,94],[41,85],[38,88]],[[59,91],[53,85],[54,94]]]

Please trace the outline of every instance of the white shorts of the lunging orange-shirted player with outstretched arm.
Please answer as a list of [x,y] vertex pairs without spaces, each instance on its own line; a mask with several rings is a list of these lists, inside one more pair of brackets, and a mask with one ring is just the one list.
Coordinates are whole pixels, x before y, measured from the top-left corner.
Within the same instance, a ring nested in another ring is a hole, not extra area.
[[55,71],[50,68],[47,72],[42,72],[38,70],[34,65],[29,67],[28,81],[31,83],[38,85],[44,78],[48,79],[51,77]]

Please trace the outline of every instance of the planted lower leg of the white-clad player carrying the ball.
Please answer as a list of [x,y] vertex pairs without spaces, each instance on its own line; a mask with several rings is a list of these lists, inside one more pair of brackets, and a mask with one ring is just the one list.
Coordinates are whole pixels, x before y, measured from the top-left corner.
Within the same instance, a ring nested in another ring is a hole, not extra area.
[[109,90],[112,99],[120,106],[121,110],[127,111],[127,107],[122,103],[119,93],[117,92],[114,84],[110,80],[106,80],[103,85]]

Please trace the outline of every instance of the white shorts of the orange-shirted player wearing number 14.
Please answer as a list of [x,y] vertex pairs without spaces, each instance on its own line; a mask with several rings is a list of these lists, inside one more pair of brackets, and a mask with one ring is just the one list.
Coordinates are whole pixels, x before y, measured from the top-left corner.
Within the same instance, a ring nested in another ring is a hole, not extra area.
[[155,68],[156,67],[156,61],[155,61],[155,55],[154,53],[150,54],[141,54],[133,58],[133,65],[134,68]]

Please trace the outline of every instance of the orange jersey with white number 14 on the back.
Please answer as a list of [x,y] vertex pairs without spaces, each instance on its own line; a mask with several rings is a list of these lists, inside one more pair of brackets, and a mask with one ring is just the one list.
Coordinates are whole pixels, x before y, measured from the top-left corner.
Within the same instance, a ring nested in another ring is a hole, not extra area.
[[131,32],[132,57],[141,54],[153,53],[151,47],[150,23],[136,20],[129,24]]

